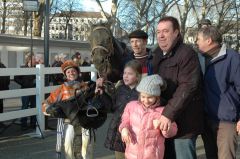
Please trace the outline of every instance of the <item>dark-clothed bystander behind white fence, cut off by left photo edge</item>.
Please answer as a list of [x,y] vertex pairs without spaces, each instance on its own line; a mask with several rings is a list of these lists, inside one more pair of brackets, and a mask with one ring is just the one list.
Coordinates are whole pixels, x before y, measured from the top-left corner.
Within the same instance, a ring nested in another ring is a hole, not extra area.
[[[0,68],[6,68],[6,66],[0,62]],[[8,85],[10,84],[10,76],[0,76],[0,81],[0,91],[8,90]],[[0,113],[3,113],[3,99],[0,99]]]

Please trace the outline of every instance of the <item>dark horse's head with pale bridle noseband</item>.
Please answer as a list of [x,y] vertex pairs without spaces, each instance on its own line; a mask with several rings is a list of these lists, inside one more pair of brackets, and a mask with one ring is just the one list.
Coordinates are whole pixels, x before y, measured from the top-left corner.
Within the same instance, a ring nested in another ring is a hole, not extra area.
[[93,64],[99,76],[107,78],[112,72],[111,56],[114,54],[113,36],[108,24],[92,25],[89,42]]

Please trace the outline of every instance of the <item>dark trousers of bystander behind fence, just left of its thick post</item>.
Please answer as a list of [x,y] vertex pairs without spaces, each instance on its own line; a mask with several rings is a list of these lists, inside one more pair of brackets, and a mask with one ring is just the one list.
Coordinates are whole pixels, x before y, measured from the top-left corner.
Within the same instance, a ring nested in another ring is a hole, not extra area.
[[[36,96],[23,96],[22,98],[22,109],[35,108],[36,107]],[[27,126],[27,117],[21,118],[21,125]],[[36,116],[30,117],[30,125],[36,125]]]

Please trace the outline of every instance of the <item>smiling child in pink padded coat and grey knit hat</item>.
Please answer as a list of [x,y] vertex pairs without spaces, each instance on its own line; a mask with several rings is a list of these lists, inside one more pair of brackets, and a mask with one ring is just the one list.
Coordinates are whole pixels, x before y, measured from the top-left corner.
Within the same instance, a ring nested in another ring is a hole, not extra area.
[[161,131],[159,119],[164,107],[160,105],[161,86],[159,75],[144,77],[137,91],[139,100],[127,104],[119,131],[126,143],[126,159],[163,159],[165,138],[177,133],[175,122],[167,131]]

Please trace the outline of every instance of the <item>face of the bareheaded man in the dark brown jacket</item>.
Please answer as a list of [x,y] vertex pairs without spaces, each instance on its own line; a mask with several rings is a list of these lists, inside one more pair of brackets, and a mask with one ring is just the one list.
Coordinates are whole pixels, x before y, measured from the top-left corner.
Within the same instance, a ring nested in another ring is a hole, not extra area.
[[168,52],[178,34],[178,30],[173,30],[171,21],[161,21],[157,26],[157,41],[159,47],[164,52]]

